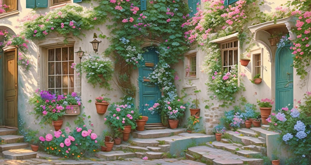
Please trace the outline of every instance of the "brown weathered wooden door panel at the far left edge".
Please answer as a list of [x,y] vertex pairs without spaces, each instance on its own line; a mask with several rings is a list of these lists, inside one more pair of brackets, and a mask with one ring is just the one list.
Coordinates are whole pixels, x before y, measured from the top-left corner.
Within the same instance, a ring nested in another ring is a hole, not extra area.
[[17,57],[16,48],[4,52],[3,89],[5,126],[17,128]]

